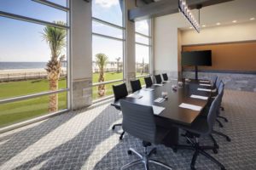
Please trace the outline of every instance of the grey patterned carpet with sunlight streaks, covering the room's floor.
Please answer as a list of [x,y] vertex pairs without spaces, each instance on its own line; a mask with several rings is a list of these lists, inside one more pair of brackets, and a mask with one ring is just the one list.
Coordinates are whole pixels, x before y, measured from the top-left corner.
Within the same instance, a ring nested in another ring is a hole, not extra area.
[[[231,142],[216,136],[220,146],[218,154],[209,153],[227,169],[256,168],[256,93],[226,90],[223,105],[224,128],[215,129],[230,135]],[[82,111],[62,114],[0,134],[0,169],[120,169],[137,159],[128,156],[130,147],[142,152],[139,139],[126,134],[119,141],[119,132],[113,123],[121,122],[121,115],[108,104]],[[184,139],[181,143],[185,143]],[[202,139],[203,144],[212,144]],[[189,169],[193,152],[157,145],[154,159],[163,161],[174,169]],[[204,156],[199,156],[197,169],[219,169]],[[133,167],[131,169],[143,169]],[[160,167],[150,165],[150,169]]]

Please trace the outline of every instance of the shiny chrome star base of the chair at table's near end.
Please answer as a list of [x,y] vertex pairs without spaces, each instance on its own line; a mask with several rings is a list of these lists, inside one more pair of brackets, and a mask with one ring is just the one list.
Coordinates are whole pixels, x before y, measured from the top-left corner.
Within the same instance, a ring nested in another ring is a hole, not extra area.
[[137,150],[134,150],[132,148],[130,148],[128,150],[128,154],[131,155],[131,153],[136,154],[139,159],[137,161],[131,161],[130,163],[127,163],[126,165],[124,165],[123,167],[121,167],[121,170],[126,169],[128,167],[132,167],[134,165],[137,165],[138,163],[143,163],[145,170],[148,170],[148,163],[154,163],[156,165],[159,165],[160,167],[166,167],[166,169],[172,169],[172,167],[169,167],[168,165],[166,165],[165,163],[162,163],[160,161],[155,161],[153,159],[149,159],[149,157],[152,154],[156,153],[156,148],[152,149],[149,153],[147,152],[147,147],[144,147],[144,152],[143,155],[138,153]]

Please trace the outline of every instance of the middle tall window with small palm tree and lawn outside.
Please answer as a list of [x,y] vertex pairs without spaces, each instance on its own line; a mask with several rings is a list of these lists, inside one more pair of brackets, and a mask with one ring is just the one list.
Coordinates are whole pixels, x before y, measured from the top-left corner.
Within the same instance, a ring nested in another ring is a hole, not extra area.
[[92,1],[93,99],[113,94],[124,79],[123,0]]

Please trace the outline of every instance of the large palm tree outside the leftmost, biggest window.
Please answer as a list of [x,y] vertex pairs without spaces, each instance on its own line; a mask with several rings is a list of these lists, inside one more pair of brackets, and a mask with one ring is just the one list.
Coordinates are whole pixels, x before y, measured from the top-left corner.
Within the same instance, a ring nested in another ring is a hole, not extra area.
[[[57,21],[55,24],[65,26],[64,22]],[[61,51],[66,47],[67,31],[65,29],[45,26],[43,31],[44,40],[48,43],[51,56],[46,65],[45,70],[49,80],[49,90],[55,91],[58,89],[59,78],[61,75],[61,60],[63,55]],[[58,111],[58,94],[49,96],[49,112]]]

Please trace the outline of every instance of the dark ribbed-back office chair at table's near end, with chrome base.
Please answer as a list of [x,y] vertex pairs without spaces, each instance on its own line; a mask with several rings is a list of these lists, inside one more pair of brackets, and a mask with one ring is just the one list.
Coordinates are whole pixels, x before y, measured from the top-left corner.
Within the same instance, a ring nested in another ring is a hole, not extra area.
[[154,144],[160,144],[160,142],[169,133],[169,130],[156,126],[154,122],[154,112],[152,106],[147,105],[137,105],[124,99],[120,100],[121,110],[123,112],[123,129],[126,133],[143,140],[144,152],[143,155],[138,153],[137,150],[130,148],[128,154],[136,154],[139,159],[137,161],[132,161],[121,169],[125,169],[134,166],[138,163],[143,163],[146,170],[148,170],[148,163],[154,163],[161,167],[166,167],[167,169],[172,169],[172,167],[166,164],[150,159],[149,157],[156,153],[156,149],[149,151],[147,147]]

